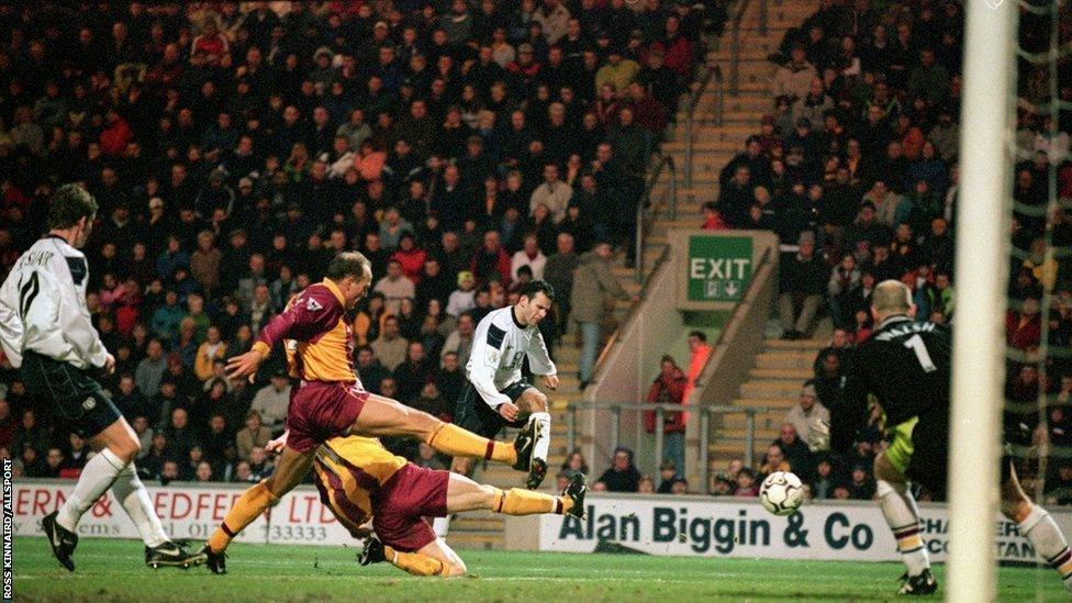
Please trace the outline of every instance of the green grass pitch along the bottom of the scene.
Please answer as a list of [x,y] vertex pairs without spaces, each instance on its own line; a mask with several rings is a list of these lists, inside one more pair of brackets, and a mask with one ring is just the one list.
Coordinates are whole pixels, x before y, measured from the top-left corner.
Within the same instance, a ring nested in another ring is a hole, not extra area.
[[[362,568],[360,547],[233,545],[227,576],[145,567],[142,544],[83,539],[68,573],[40,537],[14,541],[16,601],[882,601],[900,563],[847,563],[459,551],[470,576],[414,578],[386,563]],[[936,568],[938,580],[943,568]],[[941,594],[941,590],[939,590]],[[937,600],[937,598],[931,598]],[[998,601],[1068,601],[1049,569],[1002,568]]]

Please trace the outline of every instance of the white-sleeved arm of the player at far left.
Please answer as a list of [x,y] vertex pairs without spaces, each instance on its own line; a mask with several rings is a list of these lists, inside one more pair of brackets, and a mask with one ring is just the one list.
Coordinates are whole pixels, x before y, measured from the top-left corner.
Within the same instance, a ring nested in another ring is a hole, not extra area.
[[[70,266],[72,278],[89,279],[86,258],[54,257],[52,261],[66,261]],[[79,263],[80,271],[78,269]],[[56,268],[53,273],[62,272]],[[75,353],[88,366],[104,368],[109,362],[108,349],[104,348],[104,344],[100,340],[97,328],[93,327],[93,322],[89,315],[89,306],[86,305],[86,297],[79,293],[77,286],[81,284],[81,280],[78,280],[78,282],[67,284],[52,278],[41,278],[41,294],[37,297],[37,305],[36,308],[33,304],[30,305],[26,317],[29,321],[33,321],[34,319],[49,320],[46,316],[53,316],[54,314],[45,304],[56,303],[58,301],[59,328],[63,330],[64,339],[75,348]]]

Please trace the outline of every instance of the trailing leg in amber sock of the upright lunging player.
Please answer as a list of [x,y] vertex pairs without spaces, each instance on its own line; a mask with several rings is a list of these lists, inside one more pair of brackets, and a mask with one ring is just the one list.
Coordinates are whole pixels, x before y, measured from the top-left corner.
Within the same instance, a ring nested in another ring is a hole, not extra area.
[[205,565],[213,573],[227,573],[226,554],[224,552],[227,545],[247,525],[252,524],[265,511],[268,511],[268,507],[278,503],[283,494],[301,483],[301,480],[309,473],[309,468],[312,467],[315,456],[316,448],[299,451],[286,446],[271,477],[242,493],[231,511],[227,511],[223,523],[212,533],[209,541],[200,550],[205,555]]

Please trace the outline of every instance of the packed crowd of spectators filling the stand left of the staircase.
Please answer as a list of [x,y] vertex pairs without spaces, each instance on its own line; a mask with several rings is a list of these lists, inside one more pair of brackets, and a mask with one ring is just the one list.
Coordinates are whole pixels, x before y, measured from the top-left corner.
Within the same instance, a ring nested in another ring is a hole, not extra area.
[[[484,314],[546,279],[554,346],[587,311],[573,270],[606,261],[602,243],[632,250],[648,156],[721,26],[708,5],[2,4],[0,278],[57,186],[83,183],[88,304],[116,358],[102,383],[146,479],[271,471],[286,360],[245,383],[225,359],[340,250],[373,266],[354,317],[365,387],[449,418]],[[0,368],[0,454],[77,476],[85,440]]]

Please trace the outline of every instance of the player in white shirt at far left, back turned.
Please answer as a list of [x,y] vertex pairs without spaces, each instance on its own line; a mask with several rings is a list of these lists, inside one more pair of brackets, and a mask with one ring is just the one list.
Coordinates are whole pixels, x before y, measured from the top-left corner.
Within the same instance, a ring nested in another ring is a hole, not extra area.
[[134,469],[137,436],[92,378],[115,369],[86,306],[89,268],[78,250],[93,228],[97,201],[77,185],[56,191],[48,235],[15,261],[0,286],[0,343],[26,388],[52,405],[69,429],[88,438],[97,454],[82,469],[58,511],[42,520],[53,554],[68,571],[82,515],[105,491],[122,504],[145,541],[145,563],[190,567],[204,561],[172,543]]

